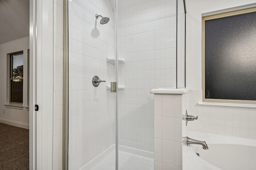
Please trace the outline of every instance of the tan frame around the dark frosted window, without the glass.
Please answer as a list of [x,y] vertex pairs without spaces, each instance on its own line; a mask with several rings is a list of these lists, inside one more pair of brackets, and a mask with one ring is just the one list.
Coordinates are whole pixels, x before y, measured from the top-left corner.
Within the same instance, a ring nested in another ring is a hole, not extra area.
[[227,99],[209,99],[205,98],[205,21],[217,18],[224,18],[228,16],[235,16],[239,14],[246,14],[256,12],[256,7],[243,8],[228,12],[221,12],[202,17],[202,101],[210,103],[232,103],[232,104],[256,104],[256,100],[227,100]]

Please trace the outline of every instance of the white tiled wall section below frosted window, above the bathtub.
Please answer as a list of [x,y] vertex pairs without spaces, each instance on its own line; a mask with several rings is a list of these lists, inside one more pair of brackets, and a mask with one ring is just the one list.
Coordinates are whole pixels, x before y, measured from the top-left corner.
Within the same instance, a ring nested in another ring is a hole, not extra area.
[[202,90],[188,92],[188,114],[197,115],[184,129],[256,139],[256,108],[230,106],[204,106]]

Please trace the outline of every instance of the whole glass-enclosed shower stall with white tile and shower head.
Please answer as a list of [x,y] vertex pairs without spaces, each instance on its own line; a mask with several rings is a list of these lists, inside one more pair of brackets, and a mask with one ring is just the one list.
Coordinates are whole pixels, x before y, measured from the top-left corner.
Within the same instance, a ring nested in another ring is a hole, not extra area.
[[64,4],[64,169],[154,170],[150,90],[186,86],[185,1]]

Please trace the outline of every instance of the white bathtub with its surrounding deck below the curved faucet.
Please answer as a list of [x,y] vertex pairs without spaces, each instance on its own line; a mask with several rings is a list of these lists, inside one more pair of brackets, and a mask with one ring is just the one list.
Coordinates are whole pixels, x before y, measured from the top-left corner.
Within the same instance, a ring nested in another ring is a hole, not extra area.
[[[206,141],[183,146],[183,170],[256,170],[256,140],[194,131],[183,136]],[[199,153],[199,156],[196,154]]]

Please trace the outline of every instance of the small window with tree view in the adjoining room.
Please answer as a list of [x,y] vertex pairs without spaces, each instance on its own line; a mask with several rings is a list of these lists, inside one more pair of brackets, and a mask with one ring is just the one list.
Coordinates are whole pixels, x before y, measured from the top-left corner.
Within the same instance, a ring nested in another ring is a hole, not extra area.
[[10,104],[23,103],[23,52],[10,55]]

